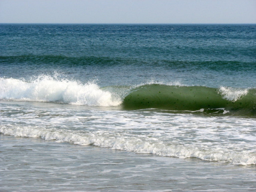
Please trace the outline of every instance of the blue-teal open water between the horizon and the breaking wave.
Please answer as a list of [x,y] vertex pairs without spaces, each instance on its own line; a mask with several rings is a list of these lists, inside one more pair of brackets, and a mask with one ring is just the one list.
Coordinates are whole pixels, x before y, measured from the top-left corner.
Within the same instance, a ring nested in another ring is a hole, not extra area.
[[59,71],[102,86],[152,79],[255,86],[255,25],[1,24],[0,30],[0,76],[27,79]]

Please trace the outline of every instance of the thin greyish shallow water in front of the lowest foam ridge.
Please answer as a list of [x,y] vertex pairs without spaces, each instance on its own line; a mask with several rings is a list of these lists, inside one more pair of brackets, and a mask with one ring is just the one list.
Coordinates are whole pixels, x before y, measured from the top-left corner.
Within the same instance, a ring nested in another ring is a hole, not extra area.
[[254,191],[255,165],[0,135],[1,191]]

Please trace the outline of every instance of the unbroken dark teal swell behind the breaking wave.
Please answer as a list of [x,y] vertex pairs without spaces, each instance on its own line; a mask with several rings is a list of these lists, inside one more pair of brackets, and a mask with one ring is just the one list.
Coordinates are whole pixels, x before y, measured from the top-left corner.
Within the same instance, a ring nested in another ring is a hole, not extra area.
[[[0,56],[0,62],[2,64],[60,64],[64,66],[112,66],[120,64],[128,64],[136,66],[139,65],[152,65],[152,59],[149,58],[132,58],[132,57],[100,57],[100,56],[80,56],[80,57],[68,57],[64,55],[16,55],[16,56]],[[153,62],[154,66],[168,66],[171,68],[184,68],[184,67],[203,67],[214,71],[255,71],[256,62],[241,62],[230,60],[219,61],[176,61],[157,59]]]

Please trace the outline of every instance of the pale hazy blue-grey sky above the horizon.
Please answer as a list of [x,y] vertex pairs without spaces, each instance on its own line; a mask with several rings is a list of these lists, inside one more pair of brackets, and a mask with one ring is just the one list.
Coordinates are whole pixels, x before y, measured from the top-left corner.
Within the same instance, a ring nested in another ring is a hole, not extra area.
[[0,23],[255,24],[256,0],[0,0]]

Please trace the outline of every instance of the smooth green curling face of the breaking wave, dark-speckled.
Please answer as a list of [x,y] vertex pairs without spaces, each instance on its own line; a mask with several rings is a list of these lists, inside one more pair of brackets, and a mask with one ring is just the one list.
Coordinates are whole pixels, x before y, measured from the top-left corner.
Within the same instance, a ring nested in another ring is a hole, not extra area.
[[168,109],[197,111],[224,108],[230,112],[256,114],[256,90],[233,90],[192,86],[142,85],[123,100],[125,109]]

